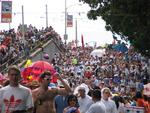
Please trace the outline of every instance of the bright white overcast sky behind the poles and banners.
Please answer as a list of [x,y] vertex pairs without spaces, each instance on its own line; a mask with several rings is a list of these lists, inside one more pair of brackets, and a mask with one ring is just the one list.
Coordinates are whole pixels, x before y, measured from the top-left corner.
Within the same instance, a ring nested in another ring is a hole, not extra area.
[[[67,28],[68,41],[75,40],[75,19],[77,19],[79,44],[81,43],[81,34],[83,34],[84,42],[90,45],[93,45],[93,42],[97,42],[97,45],[112,43],[112,33],[105,30],[105,22],[100,18],[96,21],[89,20],[86,13],[90,8],[86,4],[77,5],[79,4],[78,1],[67,0],[67,11],[74,17],[73,27]],[[12,2],[12,10],[16,15],[13,14],[11,28],[17,28],[22,23],[22,5],[24,6],[25,24],[32,24],[39,29],[45,27],[45,5],[47,4],[48,24],[63,38],[65,32],[65,0],[12,0]],[[79,12],[81,13],[80,15],[78,15]],[[0,30],[3,29],[9,29],[9,24],[0,23]]]

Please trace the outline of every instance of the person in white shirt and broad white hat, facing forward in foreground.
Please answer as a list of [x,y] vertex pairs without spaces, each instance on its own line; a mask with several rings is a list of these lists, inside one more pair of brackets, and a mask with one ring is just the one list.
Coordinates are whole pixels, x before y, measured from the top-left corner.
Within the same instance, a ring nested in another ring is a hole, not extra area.
[[84,86],[79,86],[78,88],[79,93],[79,110],[81,113],[85,113],[89,107],[93,104],[92,98],[86,94],[86,90]]

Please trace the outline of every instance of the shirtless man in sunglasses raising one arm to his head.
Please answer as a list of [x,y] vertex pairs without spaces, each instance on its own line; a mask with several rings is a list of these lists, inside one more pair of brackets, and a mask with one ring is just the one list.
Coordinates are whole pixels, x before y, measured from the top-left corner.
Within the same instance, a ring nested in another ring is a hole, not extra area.
[[48,84],[51,79],[51,74],[45,71],[40,75],[40,87],[32,91],[34,100],[34,113],[56,113],[54,106],[54,98],[57,95],[67,95],[71,92],[71,88],[64,82],[59,74],[57,78],[62,82],[64,88],[49,89]]

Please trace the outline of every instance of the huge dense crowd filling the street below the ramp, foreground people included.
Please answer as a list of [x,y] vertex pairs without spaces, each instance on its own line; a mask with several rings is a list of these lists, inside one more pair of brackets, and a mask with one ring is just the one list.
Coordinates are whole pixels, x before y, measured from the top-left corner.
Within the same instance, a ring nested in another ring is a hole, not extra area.
[[1,113],[134,113],[131,107],[150,113],[150,97],[143,93],[149,59],[132,47],[126,53],[106,47],[101,57],[92,50],[68,47],[46,59],[56,73],[44,71],[34,86],[23,84],[20,70],[10,67],[0,89]]

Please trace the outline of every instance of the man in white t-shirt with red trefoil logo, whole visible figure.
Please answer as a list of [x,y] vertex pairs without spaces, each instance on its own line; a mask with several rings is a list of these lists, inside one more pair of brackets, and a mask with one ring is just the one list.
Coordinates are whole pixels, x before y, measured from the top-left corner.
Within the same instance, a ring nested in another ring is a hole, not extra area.
[[0,89],[0,113],[32,113],[31,90],[19,84],[20,70],[12,66],[8,70],[10,84]]

